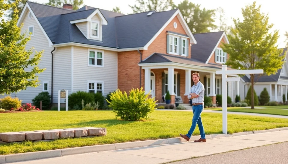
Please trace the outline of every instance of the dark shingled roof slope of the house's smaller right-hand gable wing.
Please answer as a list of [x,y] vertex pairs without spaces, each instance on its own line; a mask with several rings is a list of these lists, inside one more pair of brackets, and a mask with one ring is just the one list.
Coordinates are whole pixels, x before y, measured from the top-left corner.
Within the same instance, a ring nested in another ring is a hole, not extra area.
[[193,34],[197,44],[191,46],[191,59],[206,62],[224,31]]

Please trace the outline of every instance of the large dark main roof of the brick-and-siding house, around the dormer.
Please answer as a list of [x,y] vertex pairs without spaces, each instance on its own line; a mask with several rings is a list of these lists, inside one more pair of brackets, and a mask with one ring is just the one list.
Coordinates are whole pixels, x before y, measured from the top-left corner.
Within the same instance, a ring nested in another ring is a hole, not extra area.
[[102,26],[102,41],[87,39],[69,21],[85,19],[96,8],[84,6],[77,11],[27,1],[53,44],[75,42],[113,48],[144,47],[177,10],[124,15],[99,9],[108,25]]

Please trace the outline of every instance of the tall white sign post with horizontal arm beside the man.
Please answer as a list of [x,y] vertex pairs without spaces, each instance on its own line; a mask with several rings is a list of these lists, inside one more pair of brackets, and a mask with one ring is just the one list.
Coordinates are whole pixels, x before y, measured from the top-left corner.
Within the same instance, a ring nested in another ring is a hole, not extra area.
[[263,73],[263,70],[227,70],[227,65],[222,65],[222,70],[216,74],[222,74],[222,132],[227,134],[227,82],[240,81],[240,77],[229,77],[227,74],[256,74]]

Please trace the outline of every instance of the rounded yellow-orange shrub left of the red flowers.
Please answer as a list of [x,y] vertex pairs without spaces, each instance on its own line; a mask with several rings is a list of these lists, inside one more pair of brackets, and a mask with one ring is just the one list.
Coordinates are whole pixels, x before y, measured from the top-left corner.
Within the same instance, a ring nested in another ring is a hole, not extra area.
[[12,98],[11,96],[6,96],[1,101],[1,108],[5,110],[17,110],[21,107],[22,100],[19,100],[17,97]]

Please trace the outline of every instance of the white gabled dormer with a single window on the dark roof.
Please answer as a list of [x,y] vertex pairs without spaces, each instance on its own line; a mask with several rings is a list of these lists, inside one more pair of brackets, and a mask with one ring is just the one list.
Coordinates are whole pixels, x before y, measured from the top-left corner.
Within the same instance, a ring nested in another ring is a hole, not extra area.
[[102,41],[102,25],[108,22],[99,9],[96,9],[87,18],[70,21],[75,24],[87,39]]

